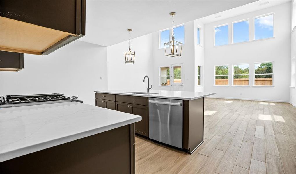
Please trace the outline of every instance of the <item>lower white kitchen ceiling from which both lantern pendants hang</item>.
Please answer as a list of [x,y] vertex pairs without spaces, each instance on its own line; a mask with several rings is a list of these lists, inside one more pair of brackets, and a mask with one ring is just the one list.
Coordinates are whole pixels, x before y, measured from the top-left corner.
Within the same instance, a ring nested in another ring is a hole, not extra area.
[[171,27],[170,12],[176,12],[175,25],[223,12],[257,0],[134,0],[86,1],[86,36],[79,40],[103,46]]

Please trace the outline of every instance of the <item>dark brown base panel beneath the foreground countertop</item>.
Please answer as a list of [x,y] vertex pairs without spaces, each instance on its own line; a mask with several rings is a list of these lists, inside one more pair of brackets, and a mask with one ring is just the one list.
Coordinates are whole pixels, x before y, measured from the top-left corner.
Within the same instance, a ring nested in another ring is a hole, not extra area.
[[0,173],[135,173],[134,124],[0,163]]

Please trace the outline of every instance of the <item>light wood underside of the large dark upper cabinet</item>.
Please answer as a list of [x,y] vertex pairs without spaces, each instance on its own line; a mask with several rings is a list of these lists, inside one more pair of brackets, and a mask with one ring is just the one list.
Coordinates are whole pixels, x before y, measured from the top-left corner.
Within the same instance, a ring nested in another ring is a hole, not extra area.
[[63,46],[64,40],[79,35],[0,17],[0,50],[47,55],[51,48]]

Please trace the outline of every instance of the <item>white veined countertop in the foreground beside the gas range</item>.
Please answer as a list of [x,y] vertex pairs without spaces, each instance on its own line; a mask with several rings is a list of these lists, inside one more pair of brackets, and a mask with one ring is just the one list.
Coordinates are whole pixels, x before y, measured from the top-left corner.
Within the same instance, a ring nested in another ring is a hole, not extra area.
[[141,121],[75,101],[0,109],[0,161]]

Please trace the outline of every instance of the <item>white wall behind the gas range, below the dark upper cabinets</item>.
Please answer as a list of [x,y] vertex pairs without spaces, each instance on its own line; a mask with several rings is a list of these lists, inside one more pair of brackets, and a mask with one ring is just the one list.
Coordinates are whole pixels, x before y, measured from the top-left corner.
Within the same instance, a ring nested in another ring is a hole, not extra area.
[[94,105],[93,91],[107,89],[106,58],[106,47],[78,40],[49,55],[24,54],[23,70],[0,72],[0,95],[63,93]]

